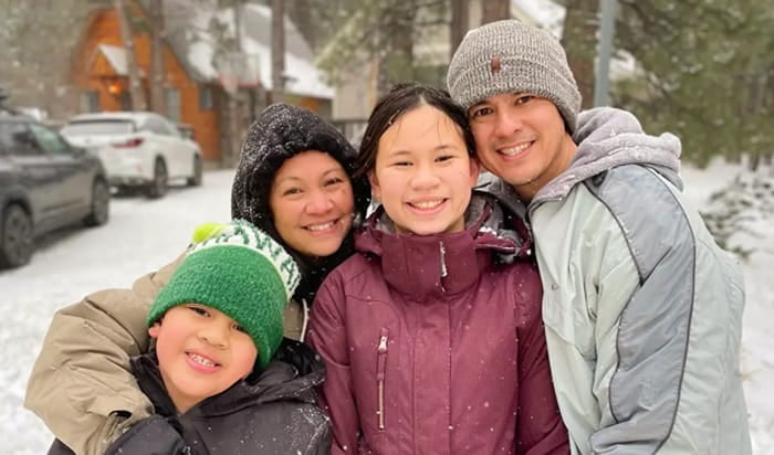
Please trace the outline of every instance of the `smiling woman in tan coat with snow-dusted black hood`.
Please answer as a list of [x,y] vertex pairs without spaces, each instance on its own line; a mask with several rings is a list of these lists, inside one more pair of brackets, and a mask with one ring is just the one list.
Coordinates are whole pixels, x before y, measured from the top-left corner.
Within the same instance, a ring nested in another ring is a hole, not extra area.
[[[353,252],[368,182],[352,178],[356,151],[330,124],[291,105],[264,109],[250,127],[232,187],[231,213],[270,233],[294,256],[302,281],[285,336],[302,339],[305,308],[328,271]],[[24,405],[76,453],[102,454],[153,413],[129,358],[148,350],[148,308],[178,261],[59,310],[33,368]]]

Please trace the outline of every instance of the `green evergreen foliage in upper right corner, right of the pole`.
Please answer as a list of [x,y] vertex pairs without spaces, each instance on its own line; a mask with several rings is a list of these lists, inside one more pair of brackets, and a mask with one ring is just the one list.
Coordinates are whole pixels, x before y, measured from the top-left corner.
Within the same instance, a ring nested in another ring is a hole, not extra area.
[[683,160],[698,166],[772,154],[774,1],[619,3],[616,44],[637,77],[617,84],[617,105],[650,131],[677,134]]

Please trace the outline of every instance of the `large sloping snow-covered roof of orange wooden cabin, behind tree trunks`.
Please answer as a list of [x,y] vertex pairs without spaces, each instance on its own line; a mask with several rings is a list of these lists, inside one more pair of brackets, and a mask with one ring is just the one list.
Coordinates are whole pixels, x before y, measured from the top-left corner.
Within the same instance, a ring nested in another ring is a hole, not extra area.
[[[175,8],[185,4],[176,3]],[[231,36],[234,34],[233,10],[197,8],[195,13],[185,18],[188,27],[177,24],[168,40],[176,47],[180,59],[191,76],[203,82],[218,82],[218,68],[215,62],[216,40],[210,34],[210,24],[216,20]],[[261,4],[244,4],[241,15],[241,50],[247,59],[258,66],[258,78],[266,89],[272,89],[271,77],[271,9]],[[314,55],[295,25],[285,18],[285,92],[333,98],[333,88],[324,82],[323,73],[314,65]]]

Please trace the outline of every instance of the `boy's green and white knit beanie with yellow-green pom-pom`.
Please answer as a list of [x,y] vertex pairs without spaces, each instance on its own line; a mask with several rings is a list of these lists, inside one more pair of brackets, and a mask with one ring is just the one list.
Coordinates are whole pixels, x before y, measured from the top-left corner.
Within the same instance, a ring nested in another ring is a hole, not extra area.
[[171,307],[200,304],[239,322],[258,347],[263,370],[282,341],[283,314],[301,279],[293,258],[243,220],[198,229],[182,263],[156,297],[148,327]]

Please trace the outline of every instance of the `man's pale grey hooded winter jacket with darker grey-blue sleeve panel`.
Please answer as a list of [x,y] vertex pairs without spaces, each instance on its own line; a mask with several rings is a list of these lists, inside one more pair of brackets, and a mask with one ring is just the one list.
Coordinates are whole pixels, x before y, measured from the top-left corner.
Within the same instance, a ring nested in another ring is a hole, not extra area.
[[[679,140],[611,108],[574,140],[527,208],[573,453],[750,454],[743,279],[683,199]],[[517,210],[508,184],[490,191]]]

